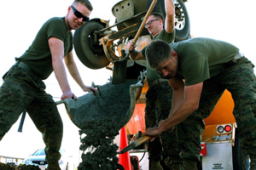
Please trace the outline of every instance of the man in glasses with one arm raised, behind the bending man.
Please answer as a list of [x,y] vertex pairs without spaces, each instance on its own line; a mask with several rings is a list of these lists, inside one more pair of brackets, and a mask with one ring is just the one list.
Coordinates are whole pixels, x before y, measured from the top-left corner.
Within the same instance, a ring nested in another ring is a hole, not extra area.
[[[172,0],[165,0],[166,19],[159,13],[151,13],[146,21],[145,28],[153,39],[160,39],[166,42],[174,42],[174,14],[175,7]],[[137,51],[133,42],[128,42],[130,58],[133,60],[145,59],[145,48]],[[172,108],[172,88],[170,84],[160,79],[158,73],[147,65],[148,92],[146,94],[145,122],[146,128],[154,125],[164,117],[168,117]],[[168,101],[167,101],[168,100]],[[160,161],[165,158],[166,166],[170,169],[180,169],[181,160],[177,146],[176,132],[162,133],[160,138],[148,142],[148,159],[150,170],[162,170]]]

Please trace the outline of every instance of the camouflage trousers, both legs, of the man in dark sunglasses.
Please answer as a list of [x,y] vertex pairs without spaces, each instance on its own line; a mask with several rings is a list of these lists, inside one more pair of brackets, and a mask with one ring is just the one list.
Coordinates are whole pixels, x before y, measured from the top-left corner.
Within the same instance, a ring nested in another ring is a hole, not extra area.
[[44,91],[44,82],[35,82],[16,65],[10,68],[3,80],[0,88],[0,140],[26,110],[43,134],[46,160],[58,161],[63,125],[55,101]]

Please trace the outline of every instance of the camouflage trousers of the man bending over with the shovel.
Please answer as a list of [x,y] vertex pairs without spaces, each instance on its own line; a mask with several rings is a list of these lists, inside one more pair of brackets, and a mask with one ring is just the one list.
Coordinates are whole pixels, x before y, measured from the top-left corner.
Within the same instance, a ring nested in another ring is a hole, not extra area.
[[255,155],[256,78],[253,64],[243,57],[237,59],[236,64],[230,61],[218,76],[204,82],[198,110],[177,125],[181,158],[199,161],[201,133],[205,128],[203,119],[211,114],[225,89],[230,91],[235,102],[233,114],[241,133],[241,149],[246,155]]

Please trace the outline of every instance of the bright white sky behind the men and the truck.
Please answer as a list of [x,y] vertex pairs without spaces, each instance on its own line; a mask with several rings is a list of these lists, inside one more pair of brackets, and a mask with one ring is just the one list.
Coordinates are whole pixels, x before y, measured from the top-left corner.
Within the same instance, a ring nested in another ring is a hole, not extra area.
[[[101,18],[110,20],[113,25],[112,14],[113,4],[119,1],[94,0],[90,1],[94,6],[90,18]],[[185,3],[189,11],[191,35],[194,37],[212,37],[226,42],[233,43],[241,49],[256,64],[255,57],[255,16],[254,6],[251,0],[189,0]],[[12,4],[10,4],[12,3]],[[1,16],[1,62],[0,76],[8,71],[15,63],[15,57],[23,54],[29,47],[38,29],[54,16],[64,16],[67,14],[67,7],[73,1],[67,0],[13,0],[3,1]],[[73,52],[75,55],[75,53]],[[76,57],[76,56],[75,56]],[[85,84],[91,82],[104,84],[108,82],[111,71],[106,69],[90,70],[76,59],[77,65]],[[2,79],[0,80],[1,84]],[[47,91],[56,100],[61,96],[61,90],[52,74],[47,81]],[[77,95],[84,93],[70,79],[73,92]],[[64,137],[62,148],[67,150],[69,155],[79,157],[79,129],[67,116],[64,105],[58,106],[64,123]],[[0,142],[0,156],[28,156],[38,148],[44,148],[41,133],[33,125],[29,116],[26,116],[23,133],[18,133],[19,122],[10,129]],[[76,158],[77,158],[76,157]],[[79,159],[79,158],[78,158]],[[76,159],[76,160],[78,160]]]

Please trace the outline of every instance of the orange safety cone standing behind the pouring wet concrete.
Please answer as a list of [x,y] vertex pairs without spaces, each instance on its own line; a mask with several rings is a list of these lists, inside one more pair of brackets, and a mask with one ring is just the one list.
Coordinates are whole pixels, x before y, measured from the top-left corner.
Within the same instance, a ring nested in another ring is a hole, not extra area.
[[[120,130],[119,151],[123,150],[126,146],[128,146],[126,131],[125,127],[122,127]],[[119,164],[122,165],[125,170],[131,170],[131,158],[129,151],[124,154],[119,154]]]

